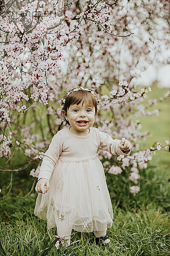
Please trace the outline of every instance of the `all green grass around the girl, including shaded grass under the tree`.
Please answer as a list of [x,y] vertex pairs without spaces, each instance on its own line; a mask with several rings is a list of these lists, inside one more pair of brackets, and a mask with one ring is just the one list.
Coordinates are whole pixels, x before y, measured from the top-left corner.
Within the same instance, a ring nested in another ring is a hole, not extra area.
[[[142,169],[140,174],[149,180],[161,178],[155,167]],[[141,192],[133,196],[126,176],[126,171],[120,175],[106,174],[114,215],[107,235],[113,246],[99,247],[92,240],[93,233],[72,230],[71,245],[61,247],[59,252],[53,238],[57,228],[48,232],[47,221],[34,216],[37,193],[20,198],[26,194],[26,183],[20,185],[18,176],[15,191],[0,204],[0,255],[67,256],[71,250],[76,256],[170,255],[170,183],[139,181]],[[28,177],[27,183],[31,180],[34,178]]]

